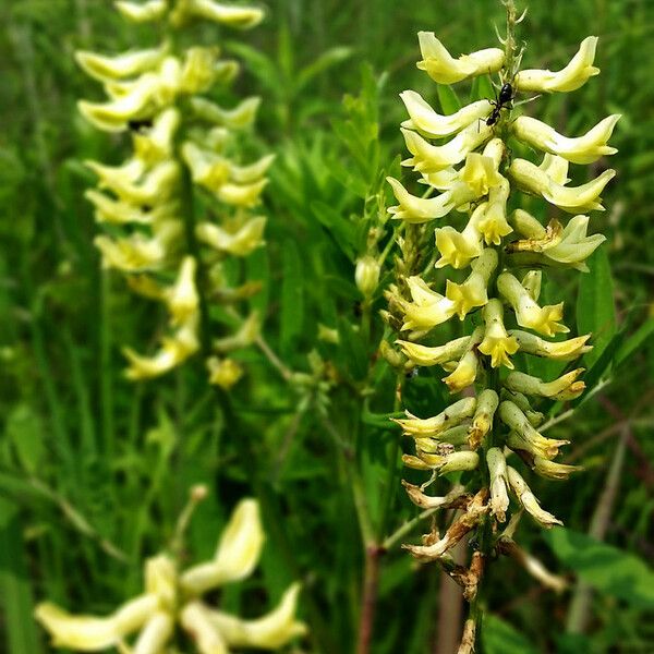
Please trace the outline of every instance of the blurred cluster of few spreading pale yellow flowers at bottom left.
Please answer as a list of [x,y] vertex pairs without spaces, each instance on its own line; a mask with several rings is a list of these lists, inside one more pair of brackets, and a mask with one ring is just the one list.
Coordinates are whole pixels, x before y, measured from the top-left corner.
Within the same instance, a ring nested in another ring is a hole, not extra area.
[[[197,492],[204,493],[202,487]],[[145,591],[108,617],[74,616],[53,604],[36,609],[58,647],[100,652],[116,647],[134,654],[162,654],[179,626],[199,654],[229,654],[232,647],[277,650],[306,632],[294,617],[300,586],[291,585],[266,616],[243,620],[217,610],[202,595],[249,577],[265,535],[258,505],[244,499],[235,508],[210,561],[180,571],[175,558],[160,554],[145,564]],[[136,635],[133,635],[136,634]],[[128,644],[128,639],[133,644]]]

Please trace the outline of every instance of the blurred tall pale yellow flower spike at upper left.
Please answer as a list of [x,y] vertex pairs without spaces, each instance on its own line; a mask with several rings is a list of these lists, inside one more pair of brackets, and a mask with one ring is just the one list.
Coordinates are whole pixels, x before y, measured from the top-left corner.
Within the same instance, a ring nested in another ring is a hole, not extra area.
[[[206,97],[215,85],[229,84],[239,66],[221,59],[218,47],[181,48],[177,33],[198,20],[250,28],[263,12],[214,0],[116,7],[129,21],[158,22],[171,35],[159,47],[114,57],[76,52],[80,65],[108,95],[104,102],[80,101],[80,111],[96,128],[129,132],[132,138],[132,156],[120,166],[87,162],[98,184],[86,196],[102,227],[95,244],[104,266],[122,271],[133,291],[160,302],[168,314],[168,332],[156,353],[125,349],[128,376],[145,379],[180,365],[199,349],[202,338],[208,339],[201,335],[208,319],[203,293],[233,303],[257,288],[230,287],[225,262],[263,244],[266,218],[253,209],[272,156],[240,165],[238,143],[239,132],[253,123],[259,99],[223,108]],[[197,222],[192,184],[211,205],[211,216]],[[229,388],[238,380],[238,363],[225,355],[252,342],[257,329],[256,315],[251,315],[237,336],[213,343],[216,355],[207,361],[211,383]]]

